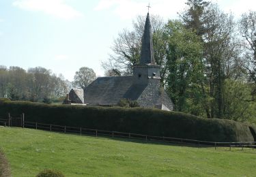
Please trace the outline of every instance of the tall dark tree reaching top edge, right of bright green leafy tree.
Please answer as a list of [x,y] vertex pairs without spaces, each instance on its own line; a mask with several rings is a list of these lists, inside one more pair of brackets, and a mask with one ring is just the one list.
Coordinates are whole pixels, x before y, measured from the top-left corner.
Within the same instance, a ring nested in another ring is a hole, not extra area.
[[238,76],[239,52],[235,38],[235,23],[231,14],[219,10],[218,5],[195,0],[186,3],[188,10],[182,19],[187,28],[193,29],[203,42],[202,62],[206,76],[201,90],[206,103],[203,103],[208,118],[223,117],[224,81]]

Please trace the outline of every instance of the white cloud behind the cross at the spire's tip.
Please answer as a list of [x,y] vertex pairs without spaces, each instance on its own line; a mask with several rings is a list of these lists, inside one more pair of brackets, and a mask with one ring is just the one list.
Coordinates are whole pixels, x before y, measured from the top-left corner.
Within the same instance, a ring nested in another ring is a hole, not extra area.
[[[150,14],[158,14],[165,18],[175,18],[177,12],[184,8],[186,0],[152,0],[150,1]],[[146,14],[148,0],[101,0],[94,10],[113,10],[120,18],[130,19],[138,14]]]

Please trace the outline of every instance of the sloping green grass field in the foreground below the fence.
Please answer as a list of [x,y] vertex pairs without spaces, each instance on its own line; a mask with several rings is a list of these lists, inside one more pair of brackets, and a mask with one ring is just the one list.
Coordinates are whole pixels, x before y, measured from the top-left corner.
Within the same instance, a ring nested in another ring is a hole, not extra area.
[[196,148],[0,127],[12,176],[255,176],[256,149]]

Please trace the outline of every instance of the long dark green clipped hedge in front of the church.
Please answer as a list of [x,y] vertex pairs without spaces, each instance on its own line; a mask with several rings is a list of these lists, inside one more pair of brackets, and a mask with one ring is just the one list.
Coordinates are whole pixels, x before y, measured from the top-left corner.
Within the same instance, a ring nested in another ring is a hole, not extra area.
[[188,138],[213,142],[254,141],[249,126],[233,120],[205,119],[145,108],[49,106],[29,101],[0,100],[0,117],[25,113],[25,120],[72,127]]

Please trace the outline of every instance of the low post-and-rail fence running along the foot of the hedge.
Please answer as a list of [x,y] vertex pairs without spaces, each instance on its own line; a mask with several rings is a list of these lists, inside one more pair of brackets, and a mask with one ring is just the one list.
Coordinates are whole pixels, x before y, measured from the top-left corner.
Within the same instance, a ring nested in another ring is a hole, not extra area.
[[[6,120],[0,118],[0,125],[6,127],[12,127],[10,125],[10,120]],[[99,129],[88,129],[83,127],[69,127],[65,125],[53,125],[53,124],[46,124],[46,123],[36,123],[30,121],[23,121],[22,126],[23,128],[30,128],[30,129],[40,129],[45,131],[55,131],[61,133],[72,133],[76,135],[94,135],[98,136],[107,136],[111,138],[129,138],[129,139],[138,139],[138,140],[145,140],[145,142],[169,142],[173,144],[190,144],[193,146],[205,147],[205,146],[214,146],[215,150],[218,147],[229,147],[231,150],[232,147],[237,148],[256,148],[256,142],[208,142],[208,141],[200,141],[200,140],[190,140],[184,138],[170,138],[165,136],[153,136],[153,135],[143,135],[138,133],[124,133],[119,131],[106,131],[106,130],[99,130]]]

